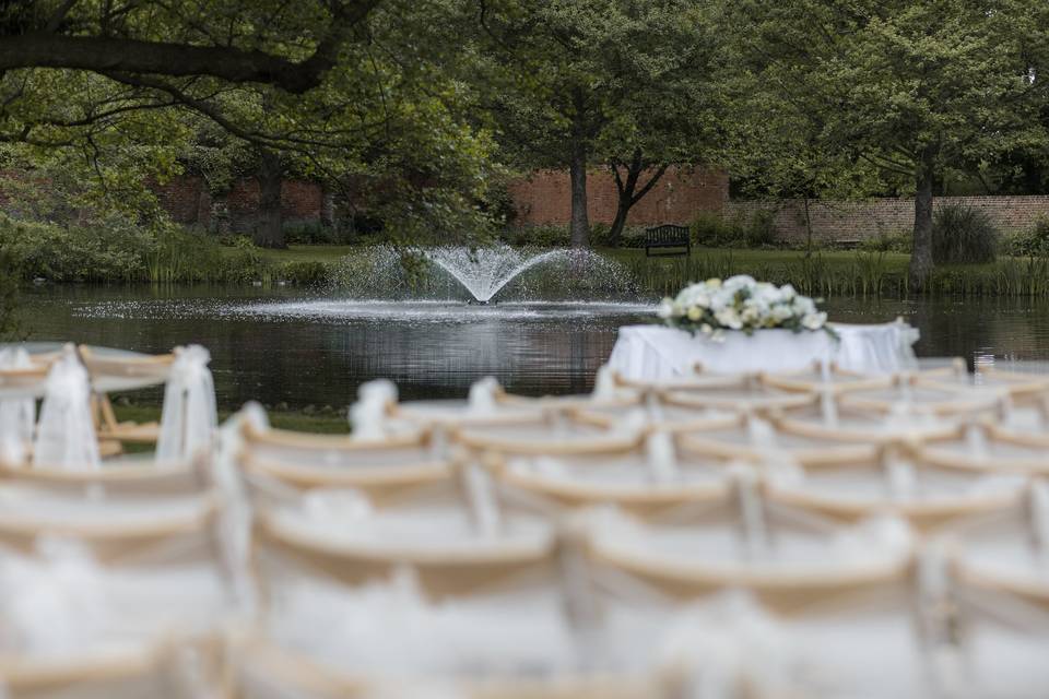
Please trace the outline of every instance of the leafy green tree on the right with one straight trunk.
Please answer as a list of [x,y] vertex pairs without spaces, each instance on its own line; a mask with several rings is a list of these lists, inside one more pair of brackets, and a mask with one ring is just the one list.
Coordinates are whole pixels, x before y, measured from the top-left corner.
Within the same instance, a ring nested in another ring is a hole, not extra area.
[[1038,3],[1001,0],[758,0],[728,5],[742,66],[770,99],[815,115],[832,159],[876,168],[915,193],[910,277],[932,270],[933,182],[1044,142]]

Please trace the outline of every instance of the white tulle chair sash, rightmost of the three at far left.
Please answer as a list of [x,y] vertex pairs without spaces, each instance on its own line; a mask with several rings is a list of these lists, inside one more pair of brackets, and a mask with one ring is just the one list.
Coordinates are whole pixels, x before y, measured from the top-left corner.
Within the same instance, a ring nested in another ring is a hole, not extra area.
[[186,461],[211,443],[219,424],[215,384],[208,364],[211,355],[200,345],[176,350],[164,391],[157,461]]

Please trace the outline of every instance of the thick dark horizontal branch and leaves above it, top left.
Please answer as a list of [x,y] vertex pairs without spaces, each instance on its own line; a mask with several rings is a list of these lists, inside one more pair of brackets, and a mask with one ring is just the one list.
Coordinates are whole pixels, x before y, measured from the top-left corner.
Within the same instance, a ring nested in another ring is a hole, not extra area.
[[208,75],[318,86],[379,0],[38,0],[0,8],[0,71]]

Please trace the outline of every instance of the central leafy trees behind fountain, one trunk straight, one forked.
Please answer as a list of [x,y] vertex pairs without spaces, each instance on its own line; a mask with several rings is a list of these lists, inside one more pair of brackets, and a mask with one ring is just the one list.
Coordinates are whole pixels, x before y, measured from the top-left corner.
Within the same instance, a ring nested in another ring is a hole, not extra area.
[[700,4],[463,0],[461,8],[465,17],[473,10],[480,27],[468,54],[475,59],[478,104],[491,115],[505,156],[521,167],[568,169],[574,247],[589,244],[588,168],[605,163],[617,176],[625,169],[616,216],[622,230],[629,208],[650,190],[638,187],[640,170],[656,163],[661,174],[659,166],[673,162],[667,159],[671,144],[689,137],[677,129],[656,147],[657,134],[668,131],[652,127],[681,107],[672,95],[698,94],[683,85],[704,75],[708,58]]

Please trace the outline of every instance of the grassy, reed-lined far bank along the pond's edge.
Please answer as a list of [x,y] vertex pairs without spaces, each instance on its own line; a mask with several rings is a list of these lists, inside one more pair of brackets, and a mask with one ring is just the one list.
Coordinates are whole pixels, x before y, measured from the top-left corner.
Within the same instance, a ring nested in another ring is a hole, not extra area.
[[[263,249],[240,239],[219,245],[213,237],[178,234],[145,252],[107,251],[101,260],[74,254],[58,240],[24,251],[21,275],[46,282],[208,282],[244,286],[322,286],[346,256],[362,251],[347,245],[292,245]],[[75,247],[75,246],[73,246]],[[14,250],[19,257],[17,249]],[[624,264],[643,296],[673,294],[684,284],[711,276],[750,274],[777,284],[793,284],[822,297],[907,298],[916,295],[908,282],[909,256],[868,250],[802,250],[694,248],[688,257],[648,258],[637,248],[599,248]],[[101,253],[99,253],[101,254]],[[985,264],[938,268],[924,296],[1047,297],[1049,258],[1002,257]]]

